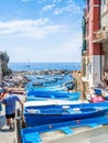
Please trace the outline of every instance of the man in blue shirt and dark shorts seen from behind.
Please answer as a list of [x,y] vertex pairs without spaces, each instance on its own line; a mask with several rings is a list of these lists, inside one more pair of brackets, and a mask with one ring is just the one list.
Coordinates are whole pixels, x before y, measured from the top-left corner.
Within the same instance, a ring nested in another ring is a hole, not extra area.
[[7,94],[1,101],[3,105],[6,105],[7,124],[9,125],[10,129],[14,129],[17,101],[21,105],[22,110],[23,110],[23,102],[17,95],[12,92],[12,90],[10,90],[9,94]]

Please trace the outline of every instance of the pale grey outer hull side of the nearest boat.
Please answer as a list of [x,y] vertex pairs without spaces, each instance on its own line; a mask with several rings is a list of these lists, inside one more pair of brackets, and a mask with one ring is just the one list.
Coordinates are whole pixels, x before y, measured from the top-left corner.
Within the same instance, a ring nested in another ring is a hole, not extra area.
[[108,127],[98,127],[76,134],[51,140],[47,143],[108,143]]

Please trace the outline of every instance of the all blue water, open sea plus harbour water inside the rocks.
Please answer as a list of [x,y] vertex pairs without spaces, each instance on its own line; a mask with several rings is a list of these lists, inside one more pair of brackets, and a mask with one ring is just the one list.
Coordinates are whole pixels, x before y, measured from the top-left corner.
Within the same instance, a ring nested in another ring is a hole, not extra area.
[[[14,72],[39,72],[39,70],[80,70],[79,63],[9,63],[9,68]],[[60,75],[55,75],[51,77],[51,75],[44,75],[43,79],[39,79],[37,75],[26,75],[26,77],[31,80],[26,87],[28,89],[34,89],[37,87],[33,87],[35,82],[42,82],[44,87],[52,86],[63,86],[64,82],[71,81],[73,77],[71,75],[65,75],[64,78],[60,78]],[[60,78],[56,81],[52,81],[52,78]],[[72,86],[68,85],[69,87]]]

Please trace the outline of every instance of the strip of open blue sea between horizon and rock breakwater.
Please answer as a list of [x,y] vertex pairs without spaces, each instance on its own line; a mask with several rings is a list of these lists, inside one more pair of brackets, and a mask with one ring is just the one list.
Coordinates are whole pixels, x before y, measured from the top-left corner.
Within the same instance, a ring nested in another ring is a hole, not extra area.
[[9,63],[9,68],[21,70],[80,70],[80,63]]

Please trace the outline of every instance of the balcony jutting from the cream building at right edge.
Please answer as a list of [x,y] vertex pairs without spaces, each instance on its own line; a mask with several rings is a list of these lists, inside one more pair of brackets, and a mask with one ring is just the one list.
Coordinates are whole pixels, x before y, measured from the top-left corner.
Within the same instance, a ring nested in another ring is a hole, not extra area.
[[108,29],[93,33],[93,43],[108,42]]

